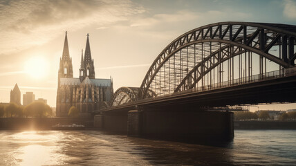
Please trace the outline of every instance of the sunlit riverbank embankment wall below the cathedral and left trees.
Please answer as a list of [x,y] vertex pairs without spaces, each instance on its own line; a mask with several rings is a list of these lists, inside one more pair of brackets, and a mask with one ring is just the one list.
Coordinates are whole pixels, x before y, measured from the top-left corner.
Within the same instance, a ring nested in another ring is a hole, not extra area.
[[92,118],[0,118],[0,130],[48,130],[55,124],[81,124],[93,129]]

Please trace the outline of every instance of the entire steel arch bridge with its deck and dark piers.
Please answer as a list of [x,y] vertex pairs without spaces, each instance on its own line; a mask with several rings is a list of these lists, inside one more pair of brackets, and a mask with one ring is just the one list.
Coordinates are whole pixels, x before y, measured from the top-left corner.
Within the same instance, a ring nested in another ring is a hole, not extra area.
[[115,91],[95,125],[130,136],[232,139],[233,113],[209,107],[295,102],[296,26],[222,22],[177,37],[139,87]]

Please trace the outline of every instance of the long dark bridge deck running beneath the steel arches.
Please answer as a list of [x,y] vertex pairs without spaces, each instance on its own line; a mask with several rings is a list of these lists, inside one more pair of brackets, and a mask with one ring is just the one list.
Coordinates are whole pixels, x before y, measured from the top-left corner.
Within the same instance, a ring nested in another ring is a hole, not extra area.
[[196,107],[225,107],[234,104],[259,104],[272,102],[295,102],[296,73],[286,77],[266,79],[248,84],[234,84],[232,86],[205,91],[190,90],[159,98],[147,98],[136,102],[121,104],[116,107],[95,111],[118,112],[141,108],[165,107],[187,108]]

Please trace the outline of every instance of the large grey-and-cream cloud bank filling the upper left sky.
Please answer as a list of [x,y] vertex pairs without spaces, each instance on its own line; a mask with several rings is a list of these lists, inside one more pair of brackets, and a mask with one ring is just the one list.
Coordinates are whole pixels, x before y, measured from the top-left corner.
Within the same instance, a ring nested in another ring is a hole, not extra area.
[[129,0],[0,1],[0,50],[19,52],[44,44],[66,29],[104,27],[141,12],[145,10]]

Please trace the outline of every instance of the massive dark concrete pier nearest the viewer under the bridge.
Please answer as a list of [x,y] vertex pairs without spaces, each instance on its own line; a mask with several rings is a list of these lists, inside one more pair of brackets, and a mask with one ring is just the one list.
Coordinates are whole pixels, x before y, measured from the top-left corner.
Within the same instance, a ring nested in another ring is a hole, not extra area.
[[128,136],[200,142],[232,140],[233,113],[229,111],[129,111]]

